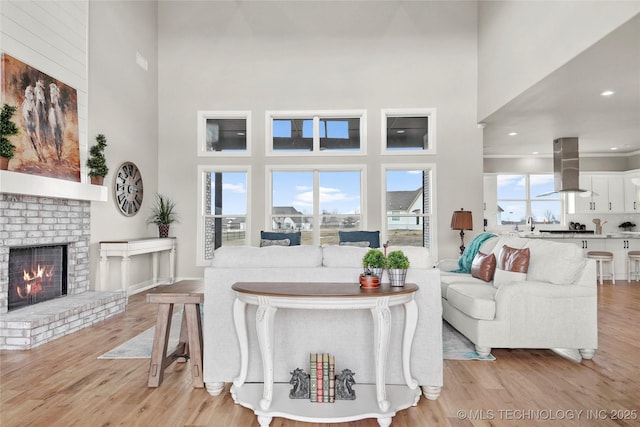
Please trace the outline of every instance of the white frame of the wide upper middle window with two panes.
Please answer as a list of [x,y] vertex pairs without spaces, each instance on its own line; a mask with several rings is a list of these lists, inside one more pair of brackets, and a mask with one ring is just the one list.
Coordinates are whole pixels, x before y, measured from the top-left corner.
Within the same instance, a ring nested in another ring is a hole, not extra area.
[[[360,120],[360,148],[358,150],[320,150],[319,122],[322,119],[353,119]],[[313,120],[313,148],[312,151],[295,150],[279,151],[273,149],[273,120],[301,119]],[[367,154],[367,110],[267,110],[265,111],[265,155],[267,157],[335,157],[335,156],[364,156]]]

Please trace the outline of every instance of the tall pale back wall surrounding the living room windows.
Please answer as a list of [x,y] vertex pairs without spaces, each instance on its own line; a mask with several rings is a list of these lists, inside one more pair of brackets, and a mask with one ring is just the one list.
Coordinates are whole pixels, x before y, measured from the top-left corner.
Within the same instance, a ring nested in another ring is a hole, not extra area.
[[[368,225],[382,223],[380,110],[437,109],[439,255],[453,257],[451,213],[476,211],[482,229],[482,139],[476,127],[476,2],[171,2],[158,4],[159,178],[182,221],[178,276],[195,266],[198,110],[251,110],[254,242],[265,224],[265,110],[366,109]],[[234,164],[237,160],[225,160]],[[277,159],[278,164],[317,163]]]

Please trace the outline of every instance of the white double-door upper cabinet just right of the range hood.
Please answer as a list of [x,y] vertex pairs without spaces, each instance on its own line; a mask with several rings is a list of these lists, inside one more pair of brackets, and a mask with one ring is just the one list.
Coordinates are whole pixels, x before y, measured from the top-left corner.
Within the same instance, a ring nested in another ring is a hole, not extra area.
[[621,175],[580,175],[588,193],[576,194],[576,213],[624,212],[623,181]]

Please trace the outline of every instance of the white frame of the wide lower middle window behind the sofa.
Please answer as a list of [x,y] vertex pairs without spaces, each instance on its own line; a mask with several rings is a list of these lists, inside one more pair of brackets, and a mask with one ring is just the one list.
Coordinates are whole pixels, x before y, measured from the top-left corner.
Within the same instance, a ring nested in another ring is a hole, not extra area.
[[367,166],[364,164],[334,164],[334,165],[265,165],[265,223],[264,230],[271,231],[271,223],[273,217],[273,172],[312,172],[313,173],[313,212],[309,215],[313,218],[313,245],[320,245],[320,225],[322,222],[322,213],[320,212],[320,172],[360,172],[360,230],[367,228],[366,209],[366,185],[367,185]]

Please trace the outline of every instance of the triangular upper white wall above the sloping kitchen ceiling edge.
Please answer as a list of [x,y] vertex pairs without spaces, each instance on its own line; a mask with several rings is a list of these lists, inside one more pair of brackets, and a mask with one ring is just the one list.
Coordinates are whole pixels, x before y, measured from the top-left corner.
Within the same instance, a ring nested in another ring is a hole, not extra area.
[[478,3],[478,121],[640,12],[637,1]]

